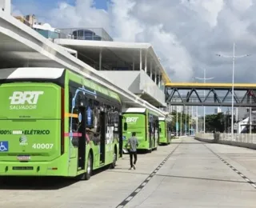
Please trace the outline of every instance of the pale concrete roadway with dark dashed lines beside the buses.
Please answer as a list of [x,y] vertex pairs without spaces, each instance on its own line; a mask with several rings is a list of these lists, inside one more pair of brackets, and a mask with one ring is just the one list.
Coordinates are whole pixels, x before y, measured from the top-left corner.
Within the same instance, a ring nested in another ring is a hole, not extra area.
[[0,184],[0,207],[255,207],[255,150],[180,138],[128,168],[126,155],[90,181],[16,178]]

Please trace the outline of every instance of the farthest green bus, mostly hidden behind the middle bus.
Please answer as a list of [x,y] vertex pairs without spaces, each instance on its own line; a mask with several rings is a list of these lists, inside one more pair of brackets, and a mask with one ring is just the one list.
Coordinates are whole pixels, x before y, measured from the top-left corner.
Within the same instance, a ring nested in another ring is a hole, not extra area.
[[171,119],[159,117],[160,138],[159,143],[163,145],[170,144],[171,141]]

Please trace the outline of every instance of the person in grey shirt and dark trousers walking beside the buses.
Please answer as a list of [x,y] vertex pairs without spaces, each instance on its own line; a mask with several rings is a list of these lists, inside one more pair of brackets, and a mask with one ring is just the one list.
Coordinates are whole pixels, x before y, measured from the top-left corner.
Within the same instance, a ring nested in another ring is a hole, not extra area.
[[[130,170],[136,169],[135,165],[137,162],[137,146],[138,146],[138,138],[136,138],[136,133],[133,132],[131,135],[131,138],[128,139],[126,142],[126,148],[127,146],[130,146],[129,148],[129,154],[130,154]],[[133,162],[134,158],[134,162]]]

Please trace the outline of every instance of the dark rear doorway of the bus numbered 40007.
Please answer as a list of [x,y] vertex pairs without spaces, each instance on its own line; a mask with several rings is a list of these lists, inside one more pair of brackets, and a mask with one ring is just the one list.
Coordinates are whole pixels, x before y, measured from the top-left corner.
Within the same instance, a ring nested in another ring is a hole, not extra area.
[[86,164],[86,108],[79,107],[78,119],[81,121],[78,127],[78,169],[85,170]]

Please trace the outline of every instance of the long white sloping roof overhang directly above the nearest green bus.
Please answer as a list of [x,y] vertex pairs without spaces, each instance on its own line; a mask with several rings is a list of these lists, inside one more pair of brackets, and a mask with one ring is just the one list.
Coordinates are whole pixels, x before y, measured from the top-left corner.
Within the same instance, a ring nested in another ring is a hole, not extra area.
[[118,93],[122,102],[127,105],[147,107],[158,114],[167,114],[129,90],[115,86],[110,78],[102,78],[97,70],[2,10],[0,10],[0,62],[1,68],[65,67]]

